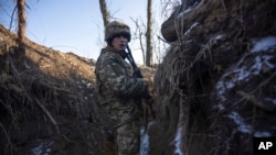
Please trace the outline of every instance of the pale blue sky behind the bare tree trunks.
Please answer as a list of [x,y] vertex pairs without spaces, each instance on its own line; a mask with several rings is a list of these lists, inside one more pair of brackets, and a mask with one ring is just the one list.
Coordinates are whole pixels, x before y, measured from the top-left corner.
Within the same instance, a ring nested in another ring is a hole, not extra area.
[[[125,21],[135,31],[132,19],[146,21],[147,0],[106,0],[114,18]],[[9,27],[14,3],[0,0],[0,23]],[[104,27],[98,0],[26,0],[28,37],[61,52],[73,52],[96,59],[104,46]],[[160,1],[153,0],[155,15]],[[155,18],[157,19],[157,16]],[[158,25],[160,27],[160,25]],[[14,30],[15,26],[13,26]],[[138,41],[137,41],[138,42]],[[138,43],[130,42],[136,62],[142,63]]]

